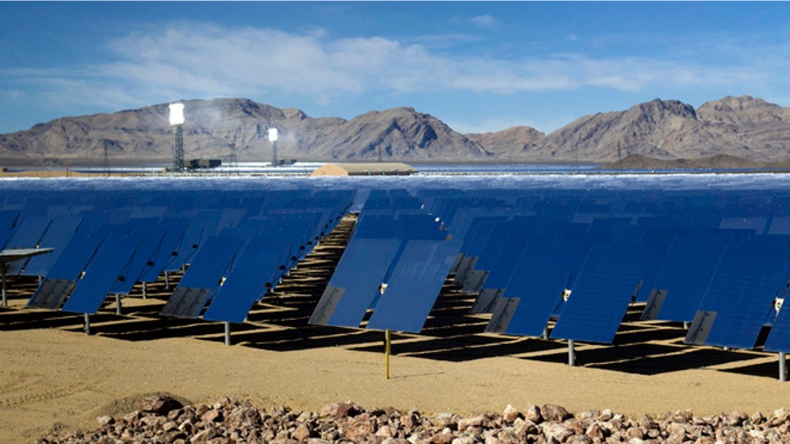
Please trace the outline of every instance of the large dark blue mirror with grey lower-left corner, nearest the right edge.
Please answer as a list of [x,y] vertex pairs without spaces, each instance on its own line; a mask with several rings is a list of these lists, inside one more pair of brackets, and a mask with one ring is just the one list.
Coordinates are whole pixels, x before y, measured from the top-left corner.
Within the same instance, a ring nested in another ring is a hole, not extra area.
[[[724,251],[686,342],[753,349],[774,298],[785,293],[790,236],[758,236]],[[778,260],[777,260],[778,259]],[[709,321],[705,321],[709,320]]]

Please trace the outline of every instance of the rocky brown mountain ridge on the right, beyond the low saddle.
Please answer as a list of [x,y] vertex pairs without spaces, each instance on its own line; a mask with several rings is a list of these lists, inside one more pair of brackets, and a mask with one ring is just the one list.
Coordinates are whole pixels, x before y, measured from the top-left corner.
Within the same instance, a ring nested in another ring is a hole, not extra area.
[[611,162],[632,154],[653,159],[717,155],[771,162],[790,149],[790,108],[744,95],[694,109],[653,100],[622,112],[585,116],[547,135],[533,159]]

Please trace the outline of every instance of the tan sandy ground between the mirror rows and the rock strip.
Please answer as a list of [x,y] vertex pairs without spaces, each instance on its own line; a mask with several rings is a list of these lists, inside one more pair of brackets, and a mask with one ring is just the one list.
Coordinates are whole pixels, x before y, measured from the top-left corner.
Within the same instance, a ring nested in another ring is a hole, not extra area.
[[451,287],[422,335],[396,334],[385,379],[383,333],[308,326],[341,247],[326,242],[234,326],[158,316],[160,282],[142,299],[107,301],[92,318],[24,309],[35,289],[14,278],[0,309],[0,442],[32,442],[48,430],[95,428],[96,417],[136,409],[142,394],[167,392],[193,403],[222,396],[259,406],[319,410],[351,400],[421,412],[501,412],[559,403],[572,412],[611,408],[638,415],[690,409],[697,415],[790,407],[790,383],[776,379],[776,355],[683,345],[681,325],[627,315],[614,346],[579,345],[482,333],[467,296]]

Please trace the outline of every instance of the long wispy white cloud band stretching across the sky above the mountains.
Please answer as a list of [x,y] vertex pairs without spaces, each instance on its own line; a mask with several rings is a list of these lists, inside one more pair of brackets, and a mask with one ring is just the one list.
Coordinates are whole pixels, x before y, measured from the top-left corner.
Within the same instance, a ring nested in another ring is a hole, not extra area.
[[[485,15],[476,20],[496,23]],[[547,54],[495,59],[383,37],[333,40],[317,29],[300,34],[213,23],[172,23],[164,30],[110,41],[106,48],[113,61],[84,68],[0,69],[0,84],[7,90],[34,86],[36,94],[58,106],[81,101],[117,108],[274,93],[293,97],[293,105],[300,105],[306,100],[332,104],[349,95],[513,95],[590,86],[627,92],[724,86],[739,92],[790,68],[775,54],[764,58],[771,63],[767,70],[754,48],[737,63],[728,65],[725,60],[716,66],[661,56]],[[766,51],[770,54],[771,48]],[[0,93],[3,90],[0,87]]]

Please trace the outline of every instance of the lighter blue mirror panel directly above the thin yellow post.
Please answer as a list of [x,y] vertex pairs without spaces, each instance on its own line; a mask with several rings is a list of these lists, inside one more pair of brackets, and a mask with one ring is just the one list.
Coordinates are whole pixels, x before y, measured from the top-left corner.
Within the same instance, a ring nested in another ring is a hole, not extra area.
[[409,240],[367,328],[421,331],[460,248],[460,242]]

